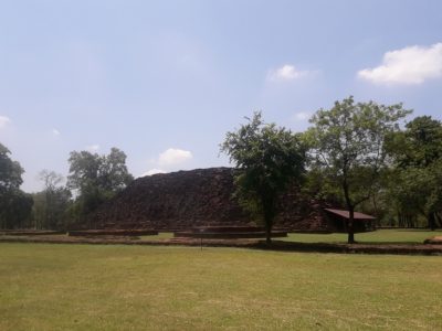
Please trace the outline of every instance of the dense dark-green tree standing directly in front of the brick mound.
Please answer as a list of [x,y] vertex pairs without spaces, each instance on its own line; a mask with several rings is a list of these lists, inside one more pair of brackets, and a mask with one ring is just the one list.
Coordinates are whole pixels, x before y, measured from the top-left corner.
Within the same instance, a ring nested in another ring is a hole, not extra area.
[[298,136],[265,124],[261,113],[246,119],[239,130],[227,134],[221,151],[236,167],[235,195],[263,221],[270,244],[278,196],[304,173],[305,151]]

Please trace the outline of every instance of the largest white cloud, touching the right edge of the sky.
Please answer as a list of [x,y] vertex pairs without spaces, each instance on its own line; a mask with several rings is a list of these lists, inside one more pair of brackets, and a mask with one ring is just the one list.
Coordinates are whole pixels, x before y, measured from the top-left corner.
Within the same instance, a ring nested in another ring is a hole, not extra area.
[[362,79],[375,84],[422,84],[442,77],[442,43],[410,46],[383,54],[381,65],[358,72]]

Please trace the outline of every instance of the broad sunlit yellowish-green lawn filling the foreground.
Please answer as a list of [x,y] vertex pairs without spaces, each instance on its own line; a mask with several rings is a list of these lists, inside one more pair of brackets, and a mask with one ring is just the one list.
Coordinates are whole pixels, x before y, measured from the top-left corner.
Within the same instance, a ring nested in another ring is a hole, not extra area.
[[0,330],[441,330],[442,257],[0,244]]

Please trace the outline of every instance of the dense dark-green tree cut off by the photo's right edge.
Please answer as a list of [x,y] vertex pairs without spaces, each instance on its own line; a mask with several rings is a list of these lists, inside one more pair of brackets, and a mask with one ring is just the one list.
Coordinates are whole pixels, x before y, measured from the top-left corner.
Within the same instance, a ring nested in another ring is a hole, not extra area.
[[394,163],[394,193],[402,214],[421,214],[431,229],[442,211],[442,122],[415,117],[391,135],[387,149]]

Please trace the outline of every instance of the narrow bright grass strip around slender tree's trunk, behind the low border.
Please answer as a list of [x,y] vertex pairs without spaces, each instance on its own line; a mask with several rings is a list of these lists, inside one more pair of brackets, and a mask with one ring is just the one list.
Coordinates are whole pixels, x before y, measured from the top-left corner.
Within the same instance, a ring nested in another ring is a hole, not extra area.
[[[357,233],[355,239],[360,244],[423,244],[423,241],[433,236],[442,236],[442,231],[408,229],[408,228],[388,228],[373,232]],[[303,234],[291,233],[287,238],[281,238],[287,242],[301,243],[347,243],[347,234]]]

